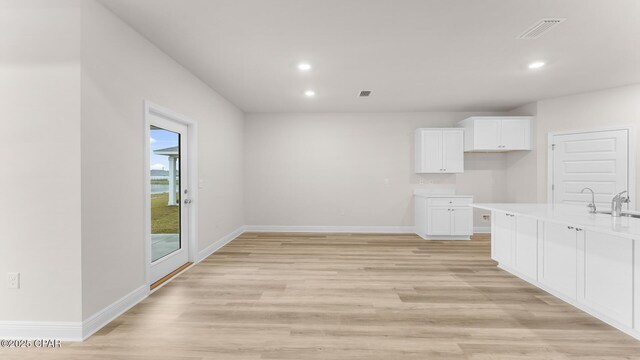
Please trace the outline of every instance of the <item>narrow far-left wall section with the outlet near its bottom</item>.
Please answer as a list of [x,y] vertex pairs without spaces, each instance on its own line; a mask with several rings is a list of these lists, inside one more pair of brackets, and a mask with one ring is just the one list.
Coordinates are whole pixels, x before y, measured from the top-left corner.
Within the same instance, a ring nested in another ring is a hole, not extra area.
[[80,9],[1,1],[0,24],[0,322],[80,321]]

